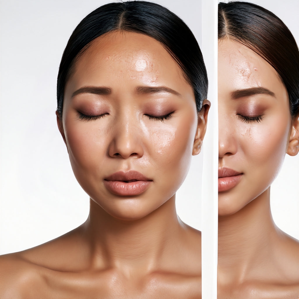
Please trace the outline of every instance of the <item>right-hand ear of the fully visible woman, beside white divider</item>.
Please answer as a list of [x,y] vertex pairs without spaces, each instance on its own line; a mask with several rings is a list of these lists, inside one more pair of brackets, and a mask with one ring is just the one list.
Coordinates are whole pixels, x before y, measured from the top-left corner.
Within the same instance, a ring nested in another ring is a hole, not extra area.
[[204,139],[205,132],[207,130],[208,112],[210,106],[210,101],[204,100],[202,103],[202,109],[198,112],[198,123],[192,151],[193,156],[198,155],[202,149],[202,140]]

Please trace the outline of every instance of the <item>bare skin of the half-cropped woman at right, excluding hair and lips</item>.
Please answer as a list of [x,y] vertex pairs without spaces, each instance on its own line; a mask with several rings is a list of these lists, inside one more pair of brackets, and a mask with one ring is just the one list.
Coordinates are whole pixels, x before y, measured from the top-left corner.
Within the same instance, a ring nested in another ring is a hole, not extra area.
[[285,154],[298,153],[299,118],[262,57],[232,39],[219,41],[218,55],[219,168],[241,178],[218,192],[217,298],[297,298],[299,242],[274,224],[270,185]]

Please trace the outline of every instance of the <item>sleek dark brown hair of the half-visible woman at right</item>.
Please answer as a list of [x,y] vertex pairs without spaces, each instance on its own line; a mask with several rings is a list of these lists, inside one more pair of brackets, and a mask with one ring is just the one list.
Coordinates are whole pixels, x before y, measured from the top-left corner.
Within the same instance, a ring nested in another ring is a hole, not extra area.
[[277,71],[289,95],[292,117],[299,112],[299,51],[289,28],[271,11],[248,2],[219,3],[218,39],[247,46]]

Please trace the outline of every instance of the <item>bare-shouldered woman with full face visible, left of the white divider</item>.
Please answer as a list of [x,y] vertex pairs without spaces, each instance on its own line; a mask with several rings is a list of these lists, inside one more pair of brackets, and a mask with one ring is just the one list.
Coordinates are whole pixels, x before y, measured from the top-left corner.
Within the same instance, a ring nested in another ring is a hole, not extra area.
[[199,46],[166,8],[132,1],[86,16],[62,56],[56,114],[89,217],[2,257],[1,295],[200,298],[200,233],[178,219],[175,193],[201,149],[206,93]]

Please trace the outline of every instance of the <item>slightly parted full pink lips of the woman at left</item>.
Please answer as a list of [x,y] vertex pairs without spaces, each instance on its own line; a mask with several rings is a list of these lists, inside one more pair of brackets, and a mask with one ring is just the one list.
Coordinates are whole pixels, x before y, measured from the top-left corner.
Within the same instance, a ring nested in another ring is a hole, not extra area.
[[104,179],[106,189],[120,196],[135,196],[144,193],[150,186],[152,180],[142,173],[130,170],[119,171]]

